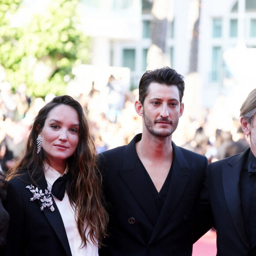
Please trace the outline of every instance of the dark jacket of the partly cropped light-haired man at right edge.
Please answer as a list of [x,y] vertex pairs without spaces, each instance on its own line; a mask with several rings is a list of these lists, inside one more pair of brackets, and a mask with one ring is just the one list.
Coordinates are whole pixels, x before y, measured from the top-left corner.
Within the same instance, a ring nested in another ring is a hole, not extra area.
[[240,196],[240,174],[249,151],[250,148],[207,167],[198,222],[201,226],[202,222],[209,226],[215,223],[218,256],[256,255],[256,243],[250,246],[245,230]]

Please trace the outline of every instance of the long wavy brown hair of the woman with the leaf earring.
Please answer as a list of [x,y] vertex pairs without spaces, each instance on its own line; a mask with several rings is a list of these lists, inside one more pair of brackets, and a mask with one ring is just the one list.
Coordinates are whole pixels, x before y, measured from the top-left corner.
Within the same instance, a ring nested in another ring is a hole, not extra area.
[[[34,184],[44,175],[44,161],[47,160],[43,148],[37,154],[38,132],[44,127],[49,112],[58,105],[69,105],[76,110],[79,117],[79,142],[75,154],[68,158],[71,180],[66,191],[71,205],[75,205],[76,222],[83,246],[87,245],[85,233],[94,245],[101,247],[106,235],[108,215],[103,206],[102,177],[96,166],[96,150],[89,132],[89,121],[82,106],[68,95],[57,96],[46,104],[34,119],[28,135],[26,149],[15,166],[9,170],[6,180],[29,174]],[[38,128],[39,127],[39,128]]]

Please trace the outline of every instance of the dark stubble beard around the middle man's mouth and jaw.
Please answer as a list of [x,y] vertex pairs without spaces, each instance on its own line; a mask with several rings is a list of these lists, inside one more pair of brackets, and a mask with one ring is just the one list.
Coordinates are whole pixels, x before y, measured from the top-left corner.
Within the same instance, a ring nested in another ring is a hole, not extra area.
[[[179,118],[175,119],[174,121],[170,121],[168,118],[161,118],[158,120],[155,120],[154,123],[150,120],[149,117],[147,117],[147,115],[145,114],[144,110],[143,110],[143,118],[144,118],[144,124],[147,128],[147,130],[154,136],[157,137],[169,137],[170,135],[173,134],[173,132],[176,130],[178,123],[179,123]],[[154,124],[156,124],[159,121],[165,121],[165,122],[170,122],[171,125],[171,129],[169,131],[158,131],[158,130],[154,130]]]

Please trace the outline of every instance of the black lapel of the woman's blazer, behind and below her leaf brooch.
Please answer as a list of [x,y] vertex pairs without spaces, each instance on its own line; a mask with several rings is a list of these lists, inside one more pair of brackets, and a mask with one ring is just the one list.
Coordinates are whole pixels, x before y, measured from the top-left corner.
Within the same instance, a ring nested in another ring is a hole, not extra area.
[[[41,178],[37,182],[37,184],[43,190],[43,192],[45,189],[47,189],[47,181],[45,180],[45,177]],[[40,200],[37,200],[37,201],[41,207],[41,201]],[[48,220],[50,226],[53,228],[54,232],[56,233],[57,237],[60,239],[60,242],[63,245],[67,255],[72,256],[72,253],[69,247],[67,233],[60,215],[60,211],[58,210],[58,207],[54,199],[53,199],[53,207],[55,209],[54,211],[51,211],[48,208],[44,208],[43,213],[45,215],[45,218]]]

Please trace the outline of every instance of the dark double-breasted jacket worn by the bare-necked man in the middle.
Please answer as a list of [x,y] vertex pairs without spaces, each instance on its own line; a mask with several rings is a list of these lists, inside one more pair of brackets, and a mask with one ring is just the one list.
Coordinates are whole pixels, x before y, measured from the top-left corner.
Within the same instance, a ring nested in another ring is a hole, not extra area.
[[207,158],[174,143],[173,172],[162,211],[157,207],[136,153],[137,135],[127,146],[99,155],[109,203],[109,237],[100,255],[191,256],[194,207]]

